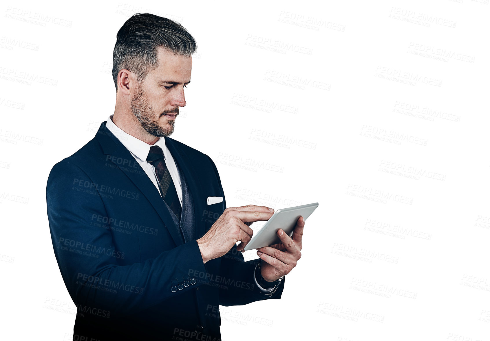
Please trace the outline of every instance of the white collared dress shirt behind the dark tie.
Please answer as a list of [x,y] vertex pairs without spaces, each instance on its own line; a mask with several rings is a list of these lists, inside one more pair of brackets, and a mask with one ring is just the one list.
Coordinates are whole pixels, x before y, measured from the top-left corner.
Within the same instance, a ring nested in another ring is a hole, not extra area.
[[[141,168],[147,173],[148,178],[153,182],[158,193],[160,193],[160,186],[158,184],[158,178],[156,177],[155,167],[147,161],[148,153],[150,152],[150,147],[146,142],[127,134],[121,128],[119,128],[112,121],[112,116],[110,115],[107,119],[106,127],[109,131],[116,136],[121,143],[123,143],[124,147],[131,153],[131,155],[138,161]],[[172,158],[172,154],[170,154],[169,149],[165,145],[165,138],[160,137],[158,141],[154,144],[154,146],[159,146],[163,150],[163,155],[165,156],[165,164],[169,169],[170,176],[172,177],[173,184],[175,185],[175,190],[177,191],[177,196],[179,197],[180,206],[182,206],[182,185],[180,183],[180,176],[177,170],[177,166],[175,165],[175,160]],[[160,193],[160,197],[162,194]]]

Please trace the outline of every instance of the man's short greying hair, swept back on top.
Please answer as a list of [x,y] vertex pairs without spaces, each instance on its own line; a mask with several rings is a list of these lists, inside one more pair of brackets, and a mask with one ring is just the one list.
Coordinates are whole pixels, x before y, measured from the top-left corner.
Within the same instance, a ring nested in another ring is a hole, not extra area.
[[128,69],[137,76],[138,84],[147,73],[158,67],[158,48],[176,56],[191,56],[196,41],[187,30],[173,20],[149,13],[136,13],[119,29],[112,55],[112,78],[118,91],[118,74]]

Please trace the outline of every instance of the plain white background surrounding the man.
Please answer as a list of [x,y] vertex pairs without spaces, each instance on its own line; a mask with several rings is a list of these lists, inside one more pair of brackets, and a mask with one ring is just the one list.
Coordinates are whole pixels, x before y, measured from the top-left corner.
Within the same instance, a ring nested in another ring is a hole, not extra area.
[[221,307],[223,340],[490,340],[485,0],[46,2],[0,6],[2,340],[71,340],[46,182],[114,112],[138,12],[196,39],[172,137],[227,206],[319,202],[282,298]]

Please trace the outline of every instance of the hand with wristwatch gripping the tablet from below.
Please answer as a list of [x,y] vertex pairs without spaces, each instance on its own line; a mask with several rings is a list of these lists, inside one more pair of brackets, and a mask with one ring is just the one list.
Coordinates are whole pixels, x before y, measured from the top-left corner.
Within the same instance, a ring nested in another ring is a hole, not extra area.
[[301,258],[301,239],[304,226],[303,217],[299,217],[296,227],[294,227],[293,238],[281,228],[277,231],[277,236],[282,243],[257,249],[257,254],[264,260],[260,266],[260,273],[266,281],[273,282],[290,273],[296,266],[296,262]]

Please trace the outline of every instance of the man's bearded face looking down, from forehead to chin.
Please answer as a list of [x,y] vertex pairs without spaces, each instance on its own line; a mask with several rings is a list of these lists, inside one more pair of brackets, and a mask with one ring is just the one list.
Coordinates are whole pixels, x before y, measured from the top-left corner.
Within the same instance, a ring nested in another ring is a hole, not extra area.
[[192,57],[159,48],[158,68],[148,72],[131,99],[131,112],[148,134],[170,136],[179,107],[186,105],[184,87],[191,82]]

